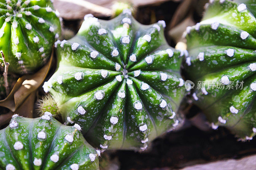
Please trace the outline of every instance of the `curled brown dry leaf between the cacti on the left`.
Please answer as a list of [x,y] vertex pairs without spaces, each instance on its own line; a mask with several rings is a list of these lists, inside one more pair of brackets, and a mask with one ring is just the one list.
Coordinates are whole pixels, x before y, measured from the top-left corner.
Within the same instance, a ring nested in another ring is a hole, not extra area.
[[6,107],[12,112],[15,112],[30,96],[30,94],[35,92],[43,83],[51,68],[52,62],[53,50],[51,59],[42,69],[32,75],[23,75],[17,80],[10,94],[4,100],[0,100],[0,106]]

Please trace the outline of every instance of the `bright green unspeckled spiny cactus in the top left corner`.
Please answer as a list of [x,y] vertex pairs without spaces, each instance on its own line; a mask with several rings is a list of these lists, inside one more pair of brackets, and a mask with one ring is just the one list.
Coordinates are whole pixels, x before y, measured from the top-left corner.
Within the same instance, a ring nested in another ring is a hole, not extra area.
[[10,63],[8,70],[35,71],[47,61],[60,35],[58,12],[50,0],[0,0],[0,11],[0,50]]

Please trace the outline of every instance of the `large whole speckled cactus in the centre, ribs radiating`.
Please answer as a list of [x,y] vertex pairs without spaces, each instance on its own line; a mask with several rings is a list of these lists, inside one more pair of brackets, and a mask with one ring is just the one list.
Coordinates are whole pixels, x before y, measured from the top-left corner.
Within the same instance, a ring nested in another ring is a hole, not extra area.
[[110,21],[84,19],[74,38],[56,42],[58,70],[44,90],[92,144],[145,149],[179,122],[183,54],[167,45],[164,21],[141,25],[128,10]]

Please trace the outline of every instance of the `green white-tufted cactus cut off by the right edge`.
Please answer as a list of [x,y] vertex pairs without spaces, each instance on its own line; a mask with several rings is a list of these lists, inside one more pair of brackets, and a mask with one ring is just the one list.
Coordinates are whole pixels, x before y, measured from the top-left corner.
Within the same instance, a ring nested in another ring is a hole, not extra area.
[[255,1],[211,0],[200,23],[187,28],[192,95],[214,129],[228,127],[243,139],[256,133]]

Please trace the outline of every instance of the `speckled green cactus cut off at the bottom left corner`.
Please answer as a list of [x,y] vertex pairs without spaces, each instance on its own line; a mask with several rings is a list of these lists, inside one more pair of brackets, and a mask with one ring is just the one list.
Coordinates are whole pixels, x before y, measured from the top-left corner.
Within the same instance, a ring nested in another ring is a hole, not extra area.
[[13,115],[0,130],[0,168],[99,169],[99,151],[84,139],[78,124],[65,126],[50,112],[30,119]]

